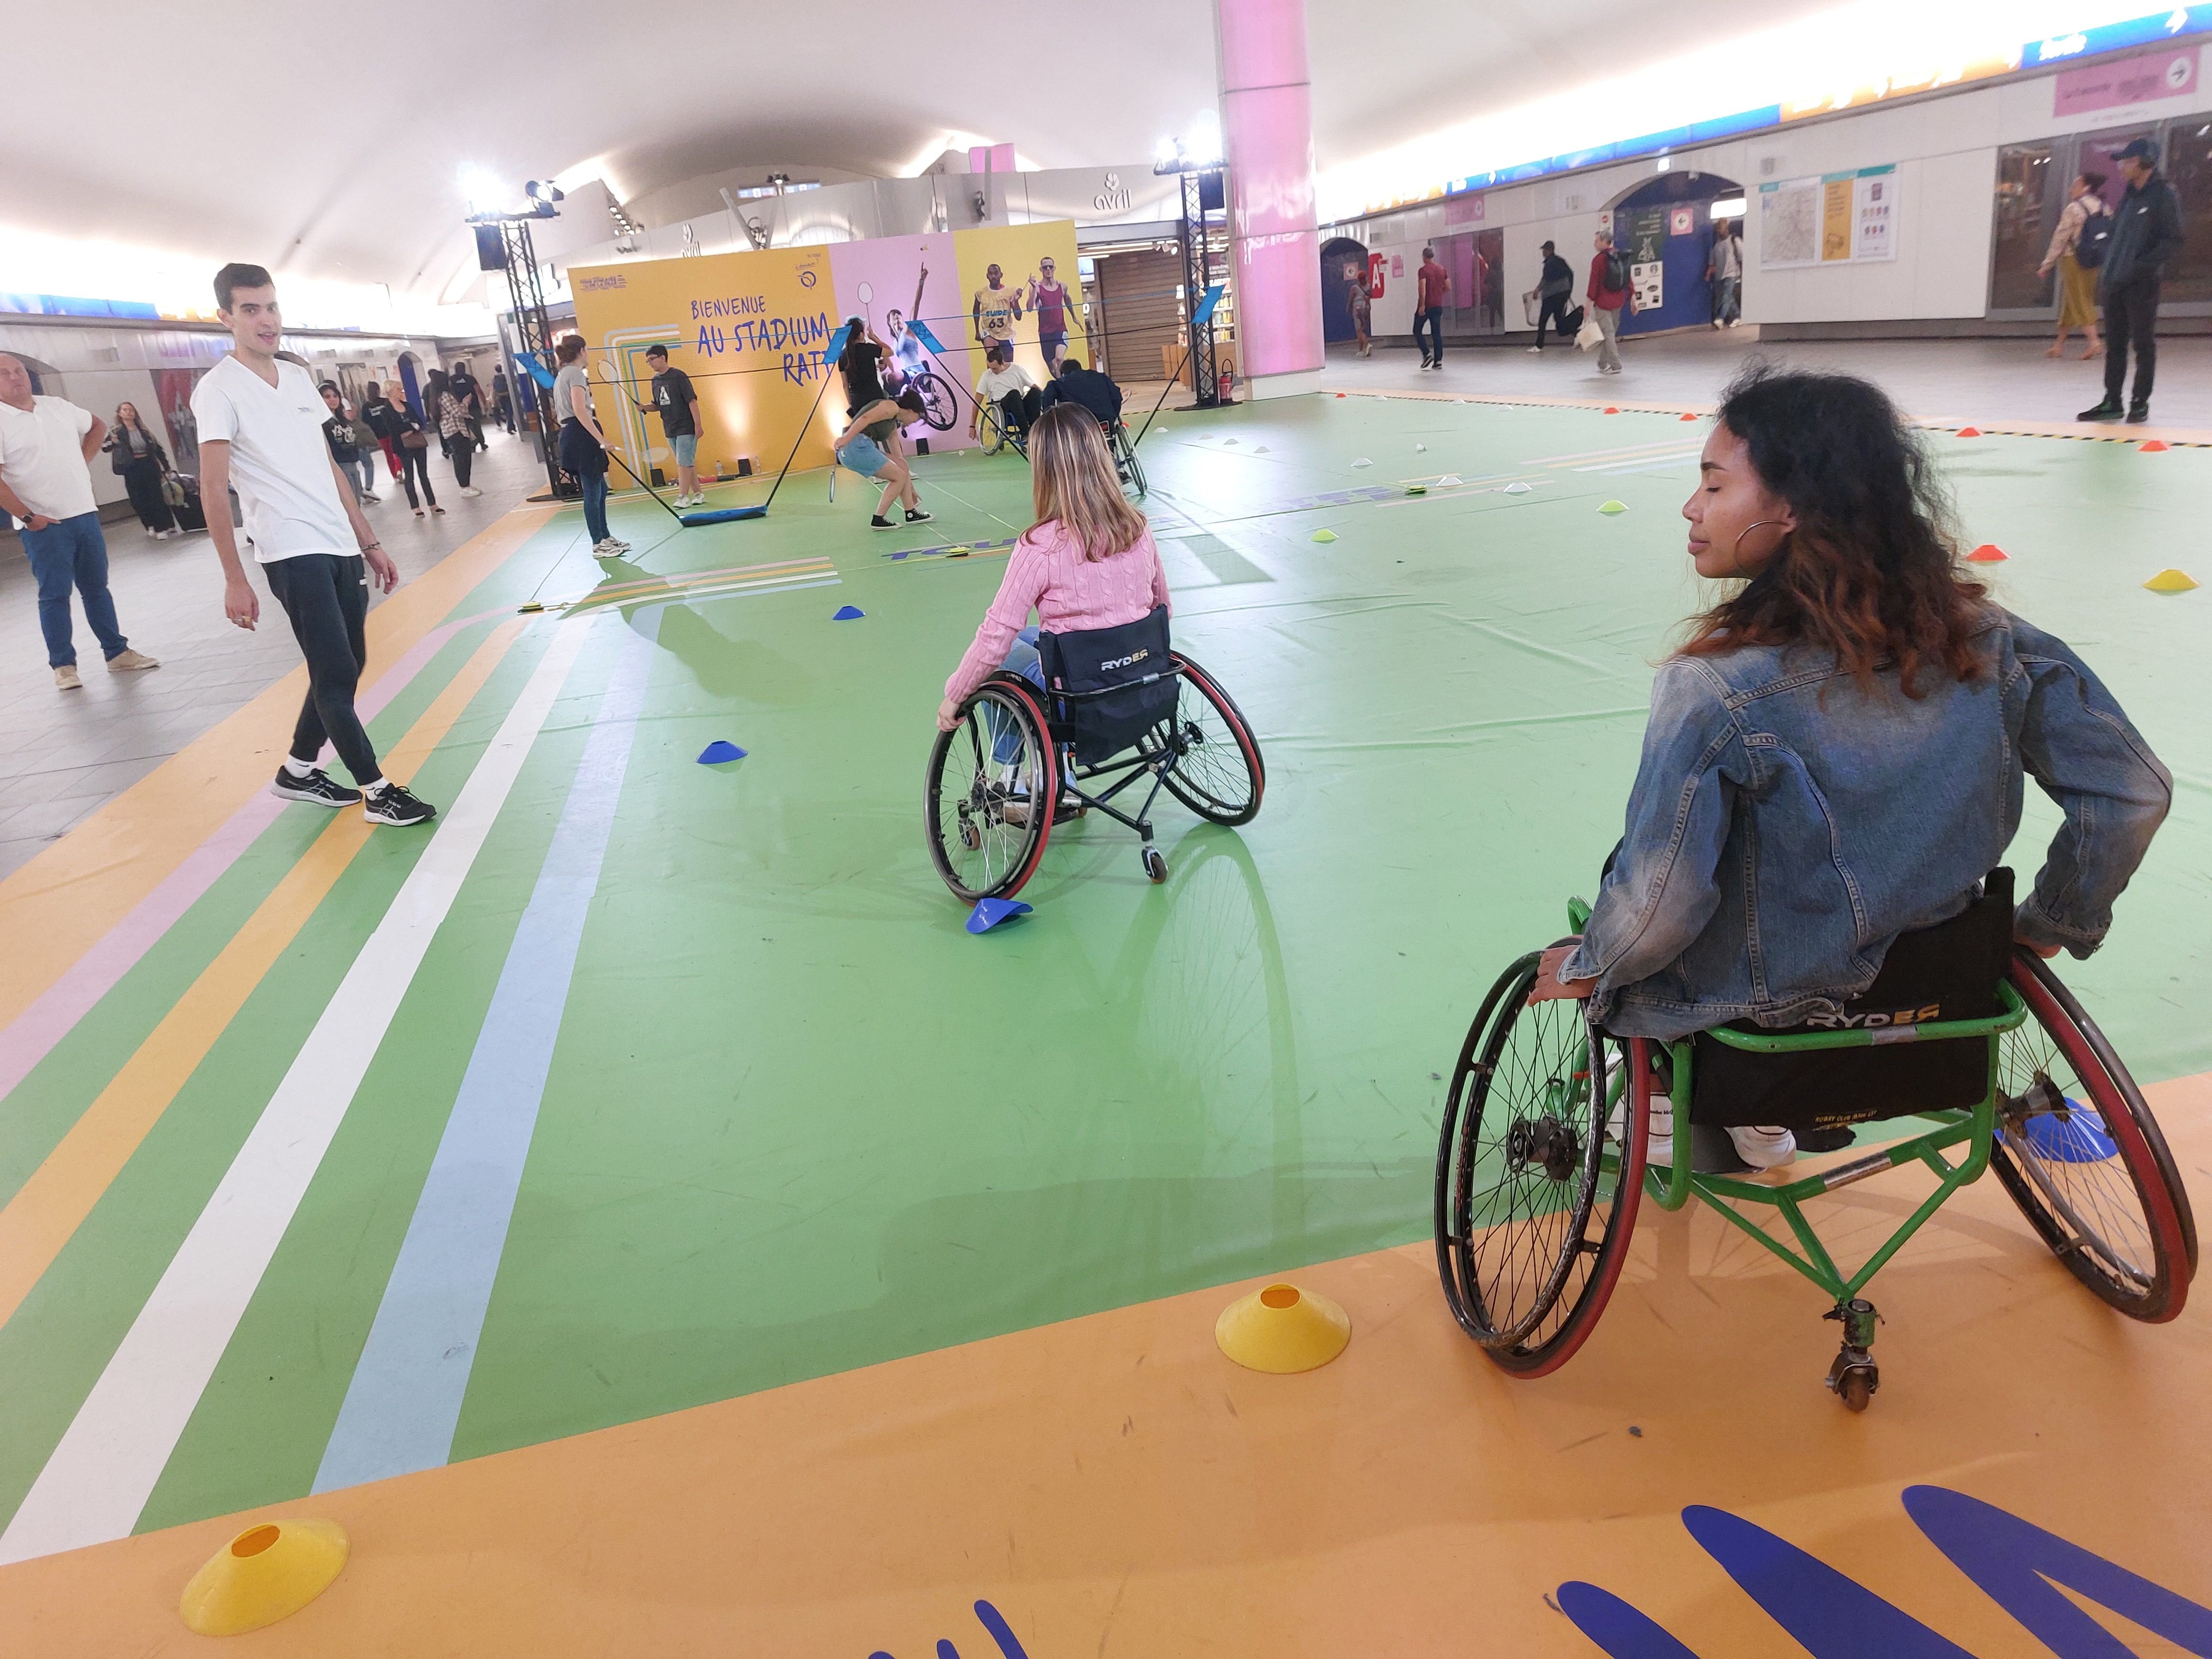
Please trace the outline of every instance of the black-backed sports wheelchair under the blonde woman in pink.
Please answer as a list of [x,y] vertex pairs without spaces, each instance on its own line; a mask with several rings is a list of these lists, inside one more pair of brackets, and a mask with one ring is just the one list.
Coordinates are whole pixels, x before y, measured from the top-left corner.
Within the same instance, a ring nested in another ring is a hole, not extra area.
[[[1168,646],[1166,608],[1119,628],[1042,633],[1037,655],[1042,686],[991,675],[929,750],[929,858],[960,898],[1018,894],[1053,825],[1091,810],[1141,836],[1155,883],[1168,878],[1150,818],[1161,790],[1221,825],[1259,812],[1259,741],[1214,677]],[[1117,807],[1141,779],[1144,805]]]

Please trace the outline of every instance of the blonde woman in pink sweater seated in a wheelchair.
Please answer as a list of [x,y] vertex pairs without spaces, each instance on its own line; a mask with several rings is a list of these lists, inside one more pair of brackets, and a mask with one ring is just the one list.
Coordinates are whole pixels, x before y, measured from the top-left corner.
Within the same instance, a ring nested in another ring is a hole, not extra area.
[[945,681],[940,732],[953,730],[960,703],[998,668],[1044,688],[1037,628],[1024,626],[1031,611],[1046,633],[1079,633],[1168,604],[1152,531],[1121,495],[1097,418],[1073,403],[1046,409],[1029,434],[1029,465],[1037,522],[1013,544],[1006,580]]

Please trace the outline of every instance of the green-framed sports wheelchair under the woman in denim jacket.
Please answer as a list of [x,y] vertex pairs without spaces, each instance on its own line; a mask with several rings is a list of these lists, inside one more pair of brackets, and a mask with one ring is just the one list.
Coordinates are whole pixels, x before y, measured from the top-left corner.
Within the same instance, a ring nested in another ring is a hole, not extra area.
[[[1582,900],[1568,905],[1577,933],[1588,916]],[[1825,1026],[1624,1042],[1582,1002],[1531,1004],[1540,958],[1513,962],[1484,998],[1436,1152],[1444,1301],[1504,1371],[1546,1376],[1588,1340],[1646,1194],[1663,1210],[1703,1199],[1834,1298],[1825,1318],[1843,1325],[1843,1343],[1827,1387],[1851,1411],[1880,1387],[1878,1316],[1860,1292],[1984,1170],[2110,1307],[2146,1323],[2181,1312],[2197,1272],[2188,1192],[2104,1033],[2042,958],[2013,947],[2013,872],[1991,872],[1958,918],[1900,936],[1867,993]],[[1668,1164],[1646,1159],[1655,1108],[1672,1113]],[[1889,1117],[1922,1126],[1767,1172],[1745,1172],[1723,1133]],[[1905,1164],[1933,1170],[1936,1190],[1845,1272],[1805,1201]],[[1736,1206],[1781,1210],[1798,1248]]]

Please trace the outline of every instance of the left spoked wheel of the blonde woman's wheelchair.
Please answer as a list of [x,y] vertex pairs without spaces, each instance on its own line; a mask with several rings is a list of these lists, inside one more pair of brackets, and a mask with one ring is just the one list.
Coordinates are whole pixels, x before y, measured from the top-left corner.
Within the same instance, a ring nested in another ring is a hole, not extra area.
[[929,858],[960,898],[1013,898],[1044,858],[1060,761],[1026,681],[987,679],[929,750]]

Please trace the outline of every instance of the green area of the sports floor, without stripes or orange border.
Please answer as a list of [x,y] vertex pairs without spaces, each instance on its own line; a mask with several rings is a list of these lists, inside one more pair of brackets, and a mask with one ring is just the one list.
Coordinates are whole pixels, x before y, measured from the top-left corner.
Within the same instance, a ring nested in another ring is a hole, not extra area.
[[[1369,398],[1170,418],[1144,456],[1175,635],[1252,719],[1265,810],[1230,832],[1164,803],[1164,887],[1093,814],[1055,832],[1035,916],[987,938],[931,872],[922,768],[1004,560],[887,555],[1026,526],[1024,462],[922,460],[927,535],[872,535],[849,476],[834,507],[799,476],[765,522],[681,533],[619,500],[619,580],[830,557],[841,582],[659,608],[453,1455],[1427,1237],[1436,1073],[1502,962],[1593,887],[1652,664],[1701,604],[1677,515],[1701,434]],[[2212,1068],[2212,611],[2141,588],[2212,564],[2212,451],[1933,445],[1969,535],[2013,555],[2000,597],[2097,666],[2177,776],[2112,945],[2068,980],[2143,1079]],[[1285,511],[1440,473],[1469,489]],[[564,513],[453,615],[586,595],[582,549]],[[832,624],[838,604],[867,615]],[[595,630],[142,1528],[307,1491],[639,622],[535,624],[422,768],[451,801],[553,630]],[[378,743],[480,639],[445,646]],[[750,757],[695,765],[717,737]],[[2031,805],[2024,876],[2055,821]],[[323,823],[268,830],[0,1106],[0,1199]],[[0,1520],[422,845],[372,838],[0,1329]]]

